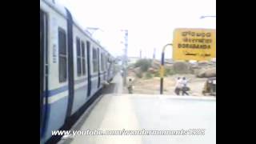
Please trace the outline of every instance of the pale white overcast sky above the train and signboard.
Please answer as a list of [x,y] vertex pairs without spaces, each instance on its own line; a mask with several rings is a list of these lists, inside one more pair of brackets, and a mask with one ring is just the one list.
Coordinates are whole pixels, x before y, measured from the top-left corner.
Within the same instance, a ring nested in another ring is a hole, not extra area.
[[[97,27],[93,37],[114,56],[124,54],[128,30],[128,56],[161,57],[162,46],[172,43],[176,28],[216,29],[216,0],[58,0],[82,28]],[[166,48],[171,58],[172,48]]]

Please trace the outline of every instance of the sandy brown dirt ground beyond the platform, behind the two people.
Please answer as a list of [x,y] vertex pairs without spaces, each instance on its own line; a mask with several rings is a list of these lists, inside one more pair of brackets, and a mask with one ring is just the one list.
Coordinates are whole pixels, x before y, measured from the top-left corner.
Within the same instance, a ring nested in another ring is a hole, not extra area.
[[[207,78],[196,78],[194,74],[172,75],[164,78],[163,94],[175,95],[174,86],[175,79],[183,77],[189,79],[188,86],[190,87],[189,94],[192,96],[202,96],[202,89]],[[159,94],[160,93],[160,78],[154,77],[150,79],[128,77],[134,80],[134,94]],[[127,78],[127,79],[128,79]],[[125,88],[126,89],[126,88]],[[127,93],[127,90],[124,90]]]

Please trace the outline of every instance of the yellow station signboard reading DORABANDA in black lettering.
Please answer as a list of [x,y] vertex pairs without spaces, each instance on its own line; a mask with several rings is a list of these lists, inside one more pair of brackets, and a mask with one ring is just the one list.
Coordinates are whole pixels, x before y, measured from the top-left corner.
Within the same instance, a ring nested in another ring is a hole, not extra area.
[[197,61],[216,58],[216,30],[174,30],[173,58]]

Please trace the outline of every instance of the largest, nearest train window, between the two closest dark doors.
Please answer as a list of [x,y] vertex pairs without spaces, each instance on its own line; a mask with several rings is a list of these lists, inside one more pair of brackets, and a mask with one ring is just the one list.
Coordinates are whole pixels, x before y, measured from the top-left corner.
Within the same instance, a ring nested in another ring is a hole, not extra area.
[[67,78],[67,54],[66,54],[66,32],[58,28],[58,55],[59,55],[59,82],[66,82]]

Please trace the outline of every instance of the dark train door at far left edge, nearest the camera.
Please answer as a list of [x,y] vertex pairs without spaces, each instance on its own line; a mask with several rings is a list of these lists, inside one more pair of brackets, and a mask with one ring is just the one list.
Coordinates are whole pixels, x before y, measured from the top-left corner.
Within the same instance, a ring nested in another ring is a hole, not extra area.
[[47,61],[47,15],[40,10],[40,135],[42,136],[45,122],[45,111],[47,103],[48,83],[48,61]]

